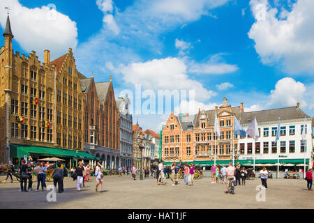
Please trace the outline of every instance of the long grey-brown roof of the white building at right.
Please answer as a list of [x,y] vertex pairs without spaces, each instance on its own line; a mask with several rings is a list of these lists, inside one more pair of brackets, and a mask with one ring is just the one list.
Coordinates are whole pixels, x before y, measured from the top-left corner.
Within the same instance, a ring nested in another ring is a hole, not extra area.
[[297,118],[311,118],[305,114],[301,109],[294,107],[284,107],[280,109],[269,109],[257,112],[244,112],[241,119],[239,120],[241,124],[249,124],[256,117],[257,123],[278,121],[278,118],[283,120],[297,119]]

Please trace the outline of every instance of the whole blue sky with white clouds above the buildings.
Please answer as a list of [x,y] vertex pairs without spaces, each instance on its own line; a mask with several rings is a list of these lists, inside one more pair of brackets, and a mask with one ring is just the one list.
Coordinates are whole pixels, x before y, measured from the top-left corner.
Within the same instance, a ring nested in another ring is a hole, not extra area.
[[[51,3],[57,12],[45,7]],[[314,114],[311,0],[3,0],[2,32],[7,5],[15,50],[36,50],[43,61],[45,49],[55,59],[72,47],[77,69],[96,82],[112,75],[117,96],[142,84],[194,90],[197,108],[181,102],[180,112],[213,109],[227,97],[246,111],[300,102]],[[167,116],[134,117],[158,131]]]

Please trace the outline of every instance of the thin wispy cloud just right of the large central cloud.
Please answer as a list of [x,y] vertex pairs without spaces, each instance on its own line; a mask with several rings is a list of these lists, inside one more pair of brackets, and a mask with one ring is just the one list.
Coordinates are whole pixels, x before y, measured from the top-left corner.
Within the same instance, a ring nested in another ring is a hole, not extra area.
[[238,70],[238,66],[234,64],[227,64],[222,61],[220,54],[211,56],[209,61],[206,63],[195,63],[194,61],[190,64],[188,72],[206,74],[206,75],[223,75]]

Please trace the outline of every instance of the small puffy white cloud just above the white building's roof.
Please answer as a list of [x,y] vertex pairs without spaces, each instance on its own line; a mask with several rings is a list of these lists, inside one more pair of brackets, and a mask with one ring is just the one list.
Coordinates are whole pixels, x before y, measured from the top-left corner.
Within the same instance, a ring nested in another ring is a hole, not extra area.
[[267,106],[296,106],[297,102],[300,102],[301,107],[306,107],[307,103],[304,101],[305,91],[306,86],[303,83],[296,82],[291,77],[285,77],[276,83],[274,90],[271,90],[270,101]]

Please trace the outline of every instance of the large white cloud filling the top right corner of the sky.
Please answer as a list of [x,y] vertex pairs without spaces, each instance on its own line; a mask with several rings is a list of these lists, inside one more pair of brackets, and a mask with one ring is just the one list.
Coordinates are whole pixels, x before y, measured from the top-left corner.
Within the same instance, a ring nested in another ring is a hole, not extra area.
[[314,72],[314,1],[299,0],[292,10],[272,8],[267,0],[251,0],[255,23],[248,33],[262,63],[281,63],[290,73]]

